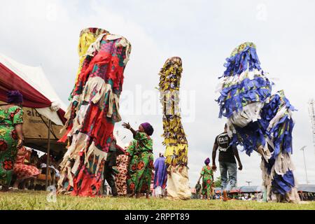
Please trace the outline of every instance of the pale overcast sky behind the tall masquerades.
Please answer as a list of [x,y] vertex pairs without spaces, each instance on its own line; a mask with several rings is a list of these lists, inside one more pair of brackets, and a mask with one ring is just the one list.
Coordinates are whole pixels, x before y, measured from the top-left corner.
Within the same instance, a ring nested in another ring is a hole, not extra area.
[[[68,104],[78,68],[78,36],[100,27],[132,43],[121,96],[123,121],[155,127],[154,151],[162,146],[158,72],[168,57],[183,59],[181,110],[189,144],[190,186],[195,186],[214,138],[223,130],[215,92],[225,58],[240,43],[257,45],[262,69],[285,90],[294,113],[293,162],[297,181],[315,184],[315,149],[307,102],[315,98],[315,1],[42,1],[1,0],[0,52],[23,64],[42,66],[59,97]],[[127,144],[131,134],[116,125]],[[241,149],[241,148],[239,148]],[[240,153],[244,170],[238,185],[260,185],[260,157]],[[216,172],[215,176],[219,176]]]

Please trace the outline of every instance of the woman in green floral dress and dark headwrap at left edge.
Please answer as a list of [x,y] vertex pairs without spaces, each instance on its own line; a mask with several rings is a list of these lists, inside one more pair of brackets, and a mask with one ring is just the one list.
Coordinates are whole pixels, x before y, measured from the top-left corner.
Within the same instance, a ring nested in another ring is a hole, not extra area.
[[22,94],[8,91],[8,105],[0,106],[0,186],[7,191],[13,175],[13,165],[18,148],[23,145]]

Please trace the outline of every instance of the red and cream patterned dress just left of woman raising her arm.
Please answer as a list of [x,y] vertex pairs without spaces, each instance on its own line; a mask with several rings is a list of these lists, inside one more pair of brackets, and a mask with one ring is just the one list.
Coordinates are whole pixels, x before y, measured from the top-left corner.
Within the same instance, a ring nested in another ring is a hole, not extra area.
[[127,195],[127,166],[128,166],[128,155],[118,155],[116,159],[116,165],[118,174],[116,175],[116,187],[119,196]]

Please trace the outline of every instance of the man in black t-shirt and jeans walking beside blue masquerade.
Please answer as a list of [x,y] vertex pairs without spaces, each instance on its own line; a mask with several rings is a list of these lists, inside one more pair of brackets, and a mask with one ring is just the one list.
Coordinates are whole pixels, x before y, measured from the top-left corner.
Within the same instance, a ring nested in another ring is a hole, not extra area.
[[219,151],[218,161],[221,173],[221,188],[223,192],[231,190],[237,183],[237,162],[239,170],[243,169],[239,152],[236,146],[230,146],[231,139],[228,136],[227,125],[225,124],[224,132],[219,134],[214,141],[214,149],[212,151],[212,169],[216,171],[216,151]]

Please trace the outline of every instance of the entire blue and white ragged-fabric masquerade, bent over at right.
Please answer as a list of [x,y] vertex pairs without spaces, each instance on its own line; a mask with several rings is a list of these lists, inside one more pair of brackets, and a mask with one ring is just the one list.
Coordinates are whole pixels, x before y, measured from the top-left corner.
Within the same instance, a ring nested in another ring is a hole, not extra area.
[[246,154],[262,155],[263,186],[278,201],[298,202],[292,153],[294,111],[283,91],[272,95],[272,83],[260,68],[253,43],[233,50],[220,78],[219,117],[228,118],[231,144],[243,146]]

